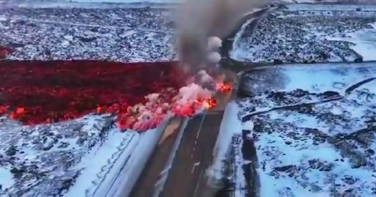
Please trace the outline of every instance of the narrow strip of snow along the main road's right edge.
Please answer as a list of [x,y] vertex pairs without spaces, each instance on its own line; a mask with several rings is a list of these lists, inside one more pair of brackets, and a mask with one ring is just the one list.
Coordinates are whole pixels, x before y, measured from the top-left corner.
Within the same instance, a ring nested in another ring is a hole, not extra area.
[[214,146],[214,162],[208,170],[212,181],[218,181],[223,176],[224,159],[231,145],[231,138],[234,134],[241,134],[242,123],[238,118],[239,107],[236,102],[227,104],[223,114],[217,141]]

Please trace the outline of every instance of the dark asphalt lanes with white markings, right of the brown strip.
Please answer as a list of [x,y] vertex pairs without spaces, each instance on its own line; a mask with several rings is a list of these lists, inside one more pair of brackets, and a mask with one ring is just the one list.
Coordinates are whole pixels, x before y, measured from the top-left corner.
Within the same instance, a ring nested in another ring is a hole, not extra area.
[[177,149],[172,168],[159,197],[207,197],[216,191],[207,185],[205,170],[212,164],[223,111],[191,119]]

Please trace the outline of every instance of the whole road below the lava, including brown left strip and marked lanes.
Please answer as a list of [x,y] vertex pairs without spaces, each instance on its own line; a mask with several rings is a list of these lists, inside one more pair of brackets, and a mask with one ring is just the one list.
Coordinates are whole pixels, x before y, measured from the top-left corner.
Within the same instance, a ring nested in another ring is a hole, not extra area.
[[[175,197],[174,192],[178,192],[178,197],[214,196],[216,191],[207,187],[204,172],[213,161],[213,148],[223,111],[233,95],[217,95],[218,105],[205,114],[190,119],[186,126],[182,119],[175,118],[165,129],[130,197]],[[179,140],[181,127],[184,128],[181,142],[171,168],[166,171],[174,144]],[[168,175],[162,187],[163,191],[160,192],[157,185],[163,181],[163,174]]]

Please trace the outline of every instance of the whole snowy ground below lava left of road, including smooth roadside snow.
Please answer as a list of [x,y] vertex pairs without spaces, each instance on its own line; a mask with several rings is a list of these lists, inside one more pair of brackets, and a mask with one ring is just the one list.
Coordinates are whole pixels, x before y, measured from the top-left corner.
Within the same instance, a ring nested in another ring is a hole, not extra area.
[[1,120],[0,195],[23,197],[126,195],[167,123],[139,134],[121,133],[110,116],[35,126]]

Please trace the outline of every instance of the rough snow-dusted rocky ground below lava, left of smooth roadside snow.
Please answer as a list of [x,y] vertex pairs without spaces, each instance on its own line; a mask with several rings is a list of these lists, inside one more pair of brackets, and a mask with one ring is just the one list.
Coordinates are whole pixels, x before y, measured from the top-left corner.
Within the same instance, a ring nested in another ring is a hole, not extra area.
[[114,134],[110,117],[35,126],[0,120],[0,174],[1,180],[8,178],[1,181],[0,195],[5,196],[62,196],[83,170],[77,164]]

